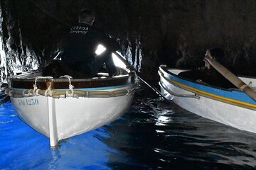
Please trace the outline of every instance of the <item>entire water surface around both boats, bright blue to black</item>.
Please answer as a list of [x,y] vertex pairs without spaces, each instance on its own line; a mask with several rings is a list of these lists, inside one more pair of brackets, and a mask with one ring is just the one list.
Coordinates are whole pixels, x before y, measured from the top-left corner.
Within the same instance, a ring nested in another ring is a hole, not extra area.
[[256,135],[167,103],[140,83],[129,111],[59,149],[0,106],[0,169],[256,169]]

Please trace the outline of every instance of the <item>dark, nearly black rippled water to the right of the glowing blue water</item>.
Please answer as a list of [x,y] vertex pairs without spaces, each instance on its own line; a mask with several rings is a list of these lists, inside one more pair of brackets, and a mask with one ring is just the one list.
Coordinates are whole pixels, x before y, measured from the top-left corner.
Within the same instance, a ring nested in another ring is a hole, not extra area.
[[120,157],[110,159],[116,169],[256,167],[256,135],[166,103],[144,84],[129,113],[108,130],[111,137],[105,142],[123,156],[121,162]]

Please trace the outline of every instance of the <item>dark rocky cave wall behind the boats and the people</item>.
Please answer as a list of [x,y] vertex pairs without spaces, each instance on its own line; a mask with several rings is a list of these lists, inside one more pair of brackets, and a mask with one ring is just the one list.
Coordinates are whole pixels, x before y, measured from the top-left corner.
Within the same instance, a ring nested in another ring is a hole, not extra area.
[[24,71],[63,50],[65,25],[90,8],[95,26],[112,35],[148,79],[156,79],[159,64],[200,67],[210,47],[222,48],[225,64],[239,74],[256,76],[255,7],[253,0],[1,0],[1,30],[6,57]]

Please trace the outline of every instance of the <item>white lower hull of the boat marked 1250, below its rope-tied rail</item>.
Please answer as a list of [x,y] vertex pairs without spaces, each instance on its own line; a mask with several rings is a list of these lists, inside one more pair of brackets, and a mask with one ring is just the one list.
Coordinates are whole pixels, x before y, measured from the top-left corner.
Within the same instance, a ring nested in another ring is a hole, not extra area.
[[11,98],[11,101],[21,120],[47,137],[53,133],[53,143],[56,145],[59,140],[80,135],[116,120],[127,111],[133,96],[134,92],[111,98],[31,96]]

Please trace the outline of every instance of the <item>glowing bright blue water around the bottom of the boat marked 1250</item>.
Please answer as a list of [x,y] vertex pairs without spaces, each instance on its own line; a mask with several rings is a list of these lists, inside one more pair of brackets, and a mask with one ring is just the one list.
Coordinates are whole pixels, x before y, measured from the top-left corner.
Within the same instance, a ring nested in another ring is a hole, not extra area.
[[0,106],[0,169],[110,169],[108,154],[115,152],[102,139],[105,128],[93,130],[49,147],[49,140],[16,117],[11,103]]

